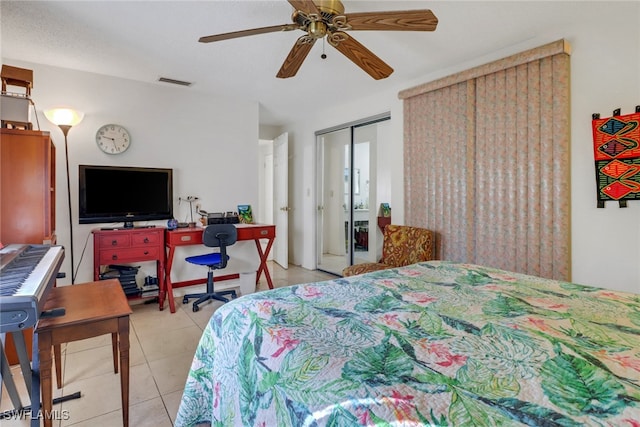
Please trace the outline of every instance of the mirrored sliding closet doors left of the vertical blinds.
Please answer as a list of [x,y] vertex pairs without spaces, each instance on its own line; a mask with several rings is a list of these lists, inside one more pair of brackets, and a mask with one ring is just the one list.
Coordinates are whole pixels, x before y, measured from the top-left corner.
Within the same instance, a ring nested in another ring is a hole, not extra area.
[[[382,254],[377,228],[377,145],[389,114],[316,132],[317,269],[341,275]],[[384,139],[384,138],[382,138]]]

